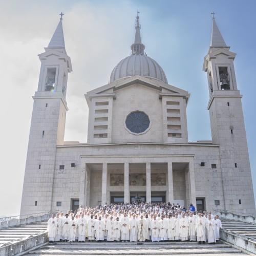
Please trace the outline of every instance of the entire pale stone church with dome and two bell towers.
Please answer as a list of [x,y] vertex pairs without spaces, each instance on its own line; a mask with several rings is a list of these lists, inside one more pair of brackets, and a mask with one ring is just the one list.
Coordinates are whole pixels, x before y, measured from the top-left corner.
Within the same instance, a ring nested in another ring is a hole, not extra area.
[[[144,53],[139,17],[130,56],[109,83],[88,92],[88,142],[65,142],[71,59],[62,18],[39,54],[41,69],[31,120],[20,215],[78,205],[170,202],[198,210],[254,212],[241,98],[233,61],[212,19],[208,78],[211,141],[188,142],[189,93],[168,84]],[[185,75],[185,74],[184,74]]]

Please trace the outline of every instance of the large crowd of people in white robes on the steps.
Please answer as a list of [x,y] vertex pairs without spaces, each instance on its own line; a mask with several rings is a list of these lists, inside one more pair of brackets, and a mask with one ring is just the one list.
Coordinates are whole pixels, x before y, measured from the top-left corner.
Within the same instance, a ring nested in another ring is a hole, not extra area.
[[62,242],[164,242],[199,244],[219,240],[221,221],[211,212],[198,212],[170,203],[105,204],[58,212],[48,221],[50,243]]

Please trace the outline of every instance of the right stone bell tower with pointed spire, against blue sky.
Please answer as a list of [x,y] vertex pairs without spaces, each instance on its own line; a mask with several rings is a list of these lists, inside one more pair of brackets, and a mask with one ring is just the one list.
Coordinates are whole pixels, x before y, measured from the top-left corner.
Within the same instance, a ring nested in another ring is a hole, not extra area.
[[237,88],[233,61],[212,12],[210,47],[204,58],[207,73],[212,144],[219,145],[225,210],[254,213],[255,203],[244,125],[242,95]]

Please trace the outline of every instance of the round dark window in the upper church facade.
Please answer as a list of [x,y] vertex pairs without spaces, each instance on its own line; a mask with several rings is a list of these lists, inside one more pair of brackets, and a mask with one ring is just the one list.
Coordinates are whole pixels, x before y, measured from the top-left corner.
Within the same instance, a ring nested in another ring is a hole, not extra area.
[[145,113],[136,111],[126,117],[125,124],[132,133],[139,134],[145,132],[150,126],[150,119]]

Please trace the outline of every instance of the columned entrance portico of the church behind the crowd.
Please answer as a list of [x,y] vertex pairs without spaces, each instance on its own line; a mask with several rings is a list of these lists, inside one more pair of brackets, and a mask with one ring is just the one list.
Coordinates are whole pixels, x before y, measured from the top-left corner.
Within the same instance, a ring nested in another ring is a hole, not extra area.
[[[101,162],[99,162],[101,160]],[[196,204],[194,156],[81,156],[80,203],[146,202]]]

